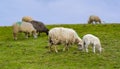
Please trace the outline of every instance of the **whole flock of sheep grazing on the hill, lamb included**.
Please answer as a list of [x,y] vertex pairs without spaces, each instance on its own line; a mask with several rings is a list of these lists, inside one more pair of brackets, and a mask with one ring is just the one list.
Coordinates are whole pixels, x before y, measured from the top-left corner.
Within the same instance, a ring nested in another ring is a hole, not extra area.
[[[88,24],[93,23],[93,21],[101,24],[101,20],[97,16],[90,16]],[[14,40],[18,40],[17,34],[21,32],[25,33],[26,38],[31,35],[37,38],[40,36],[40,33],[46,33],[46,36],[48,36],[49,52],[52,52],[52,49],[54,49],[58,53],[57,46],[60,44],[64,46],[63,51],[69,50],[73,44],[80,51],[88,52],[89,45],[93,45],[93,53],[96,52],[96,49],[99,53],[102,51],[100,39],[92,34],[86,34],[83,38],[80,38],[78,33],[72,28],[54,27],[48,29],[43,22],[33,20],[30,16],[24,16],[21,21],[13,23],[12,27]]]

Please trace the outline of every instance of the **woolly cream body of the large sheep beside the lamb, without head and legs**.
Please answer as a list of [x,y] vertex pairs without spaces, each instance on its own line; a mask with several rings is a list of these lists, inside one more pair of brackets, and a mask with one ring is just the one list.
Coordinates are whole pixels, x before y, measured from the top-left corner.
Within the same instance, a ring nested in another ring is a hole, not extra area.
[[53,28],[49,31],[49,38],[53,42],[53,44],[73,44],[76,41],[77,34],[73,29],[68,28]]

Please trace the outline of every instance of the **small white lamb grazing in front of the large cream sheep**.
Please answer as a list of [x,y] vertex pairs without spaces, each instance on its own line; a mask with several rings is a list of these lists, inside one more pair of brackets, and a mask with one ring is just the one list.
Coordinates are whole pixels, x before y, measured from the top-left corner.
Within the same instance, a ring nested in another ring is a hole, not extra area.
[[98,37],[92,34],[86,34],[83,36],[83,48],[88,52],[88,46],[93,45],[93,53],[95,53],[95,49],[98,50],[99,53],[102,51],[101,43]]

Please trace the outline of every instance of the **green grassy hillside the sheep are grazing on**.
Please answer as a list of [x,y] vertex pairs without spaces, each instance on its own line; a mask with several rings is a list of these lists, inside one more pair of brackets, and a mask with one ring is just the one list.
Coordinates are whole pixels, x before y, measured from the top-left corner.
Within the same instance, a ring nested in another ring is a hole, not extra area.
[[[120,24],[62,24],[47,25],[73,28],[82,38],[91,33],[100,38],[102,54],[80,52],[76,45],[69,51],[48,53],[48,38],[42,33],[37,39],[19,34],[13,40],[11,27],[0,27],[0,69],[120,69]],[[58,46],[59,50],[63,46]]]

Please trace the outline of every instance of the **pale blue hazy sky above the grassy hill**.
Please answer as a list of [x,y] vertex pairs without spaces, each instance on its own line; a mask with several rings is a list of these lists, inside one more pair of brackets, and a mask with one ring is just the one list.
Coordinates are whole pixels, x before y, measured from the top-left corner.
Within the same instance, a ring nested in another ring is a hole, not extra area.
[[23,16],[44,24],[87,23],[90,15],[120,23],[120,0],[0,0],[0,9],[0,26],[11,26]]

